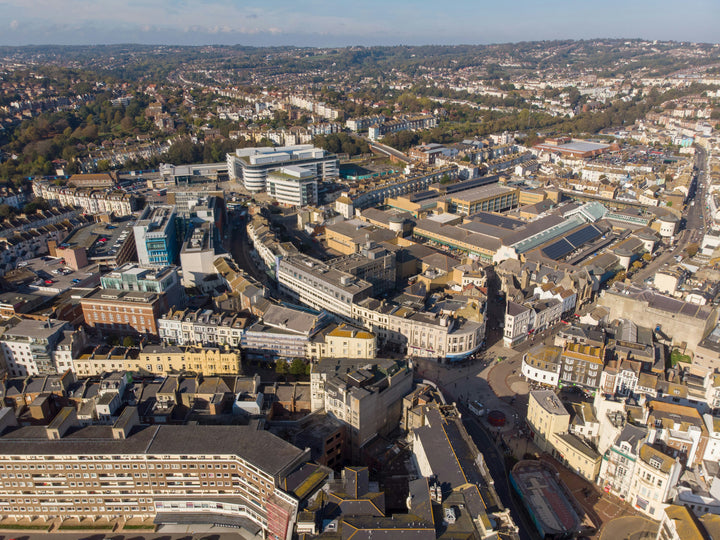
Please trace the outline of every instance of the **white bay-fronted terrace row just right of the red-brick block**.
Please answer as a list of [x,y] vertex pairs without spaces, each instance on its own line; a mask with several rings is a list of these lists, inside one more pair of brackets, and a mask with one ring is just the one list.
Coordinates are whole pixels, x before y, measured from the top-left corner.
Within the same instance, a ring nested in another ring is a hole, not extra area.
[[158,319],[158,335],[172,345],[237,347],[247,319],[210,309],[170,310]]

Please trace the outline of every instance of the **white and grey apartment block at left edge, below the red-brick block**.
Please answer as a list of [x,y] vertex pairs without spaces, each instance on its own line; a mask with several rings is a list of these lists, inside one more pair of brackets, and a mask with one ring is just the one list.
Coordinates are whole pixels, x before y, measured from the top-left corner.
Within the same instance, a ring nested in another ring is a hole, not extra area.
[[65,321],[20,320],[0,336],[5,369],[12,377],[56,373],[55,346],[69,329]]

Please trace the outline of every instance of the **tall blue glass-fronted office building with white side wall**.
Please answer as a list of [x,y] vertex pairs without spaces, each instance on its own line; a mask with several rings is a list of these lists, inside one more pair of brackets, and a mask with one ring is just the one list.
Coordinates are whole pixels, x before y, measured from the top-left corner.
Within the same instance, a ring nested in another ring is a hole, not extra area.
[[148,206],[133,227],[141,266],[168,266],[177,262],[175,208]]

